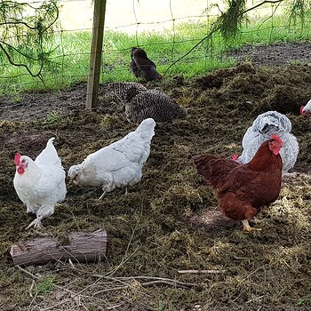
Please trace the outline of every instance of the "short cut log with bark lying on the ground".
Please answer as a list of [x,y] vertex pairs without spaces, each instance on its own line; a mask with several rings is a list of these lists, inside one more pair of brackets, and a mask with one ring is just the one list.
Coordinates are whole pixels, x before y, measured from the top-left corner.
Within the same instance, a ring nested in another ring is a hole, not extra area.
[[107,232],[72,232],[68,245],[61,245],[55,237],[46,236],[13,244],[10,254],[14,265],[44,265],[50,261],[68,260],[93,262],[105,257]]

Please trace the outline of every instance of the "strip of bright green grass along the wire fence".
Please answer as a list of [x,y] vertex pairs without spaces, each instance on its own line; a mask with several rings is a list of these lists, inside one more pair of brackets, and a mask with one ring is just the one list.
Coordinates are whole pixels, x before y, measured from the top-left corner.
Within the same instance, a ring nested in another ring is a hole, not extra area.
[[[210,42],[203,42],[187,57],[170,68],[168,75],[191,77],[216,68],[235,65],[235,59],[227,58],[225,53],[242,47],[244,44],[272,44],[276,42],[297,42],[310,37],[310,20],[305,24],[290,26],[287,17],[274,19],[253,18],[245,24],[242,33],[225,42],[215,33]],[[130,49],[140,45],[155,60],[159,72],[163,73],[174,60],[185,55],[195,44],[206,36],[209,28],[205,23],[179,24],[174,36],[171,30],[164,33],[141,33],[138,37],[126,33],[107,31],[104,35],[102,57],[102,81],[134,81],[129,70]],[[89,55],[92,41],[91,32],[57,33],[52,55],[52,66],[44,70],[44,83],[38,78],[28,76],[23,68],[14,68],[0,53],[0,94],[14,94],[20,91],[40,91],[61,89],[68,85],[86,81],[89,71]]]

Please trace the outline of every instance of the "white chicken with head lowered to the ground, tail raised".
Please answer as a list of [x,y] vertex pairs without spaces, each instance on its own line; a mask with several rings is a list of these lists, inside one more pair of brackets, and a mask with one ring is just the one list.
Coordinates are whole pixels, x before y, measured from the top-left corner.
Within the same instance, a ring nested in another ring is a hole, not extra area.
[[142,166],[150,154],[150,144],[155,135],[156,122],[148,118],[134,132],[122,140],[101,148],[73,165],[68,177],[78,185],[102,187],[100,199],[116,187],[132,186],[142,176]]

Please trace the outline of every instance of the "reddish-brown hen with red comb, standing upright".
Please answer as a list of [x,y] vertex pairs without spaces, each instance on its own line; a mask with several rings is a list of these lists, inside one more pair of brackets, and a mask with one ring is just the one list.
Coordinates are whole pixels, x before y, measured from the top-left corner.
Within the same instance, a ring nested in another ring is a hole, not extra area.
[[216,189],[224,214],[242,220],[243,229],[251,231],[248,220],[262,206],[275,202],[281,191],[283,141],[277,135],[263,142],[250,163],[239,164],[218,156],[194,156],[192,159],[205,182]]

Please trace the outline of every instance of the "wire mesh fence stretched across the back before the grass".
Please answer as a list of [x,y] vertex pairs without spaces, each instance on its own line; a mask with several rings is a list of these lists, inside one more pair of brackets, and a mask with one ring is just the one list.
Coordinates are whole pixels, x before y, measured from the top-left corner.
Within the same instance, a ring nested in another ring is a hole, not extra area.
[[[0,6],[4,3],[4,0],[0,2]],[[249,1],[247,7],[260,3]],[[44,3],[28,1],[28,4],[37,7]],[[22,66],[12,66],[1,50],[0,92],[60,88],[87,80],[92,42],[92,1],[62,0],[58,4],[60,17],[54,25],[52,39],[46,43],[52,54],[49,66],[43,70],[43,80],[29,76]],[[129,68],[132,46],[145,49],[160,73],[194,76],[213,68],[233,65],[243,54],[245,44],[309,39],[309,14],[293,24],[283,2],[270,2],[248,13],[241,32],[234,40],[224,40],[219,31],[209,40],[203,40],[225,9],[225,4],[211,0],[108,0],[101,81],[135,80]],[[0,22],[0,34],[1,25]],[[27,40],[25,37],[25,44]],[[12,36],[6,36],[6,41],[14,44],[13,32]],[[0,44],[7,48],[1,40]],[[19,62],[19,57],[16,56],[16,62]],[[20,61],[23,61],[22,57]],[[36,69],[36,64],[32,66]]]

